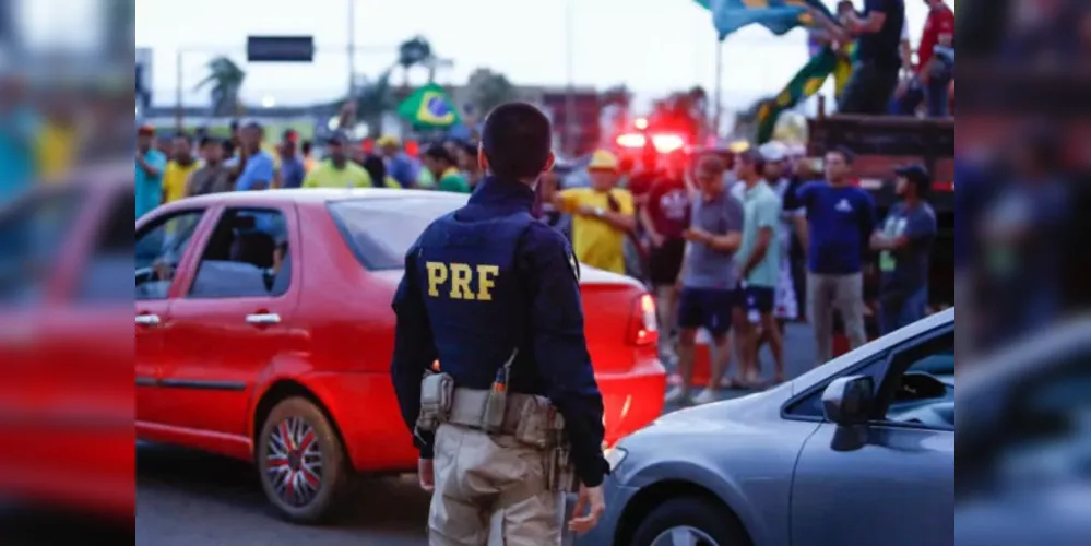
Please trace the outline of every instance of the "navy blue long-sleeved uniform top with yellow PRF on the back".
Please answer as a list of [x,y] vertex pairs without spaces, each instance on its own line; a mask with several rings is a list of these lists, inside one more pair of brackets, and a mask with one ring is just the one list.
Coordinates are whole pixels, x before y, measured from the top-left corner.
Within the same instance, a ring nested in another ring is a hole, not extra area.
[[[565,237],[532,218],[534,201],[526,185],[488,177],[465,207],[436,221],[410,248],[393,301],[391,376],[412,429],[420,379],[435,360],[458,387],[487,390],[518,348],[508,391],[550,400],[565,417],[577,474],[594,487],[609,467],[578,266]],[[452,286],[459,277],[470,278],[463,289]],[[432,456],[431,443],[430,436],[417,439],[423,458]]]

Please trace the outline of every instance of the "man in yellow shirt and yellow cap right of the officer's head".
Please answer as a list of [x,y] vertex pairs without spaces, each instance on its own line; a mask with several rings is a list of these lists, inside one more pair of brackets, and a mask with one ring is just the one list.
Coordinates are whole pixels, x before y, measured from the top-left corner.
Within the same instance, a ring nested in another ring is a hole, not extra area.
[[572,245],[580,262],[625,274],[625,239],[636,228],[632,194],[617,188],[617,157],[595,152],[588,165],[591,188],[553,195],[557,210],[572,215]]

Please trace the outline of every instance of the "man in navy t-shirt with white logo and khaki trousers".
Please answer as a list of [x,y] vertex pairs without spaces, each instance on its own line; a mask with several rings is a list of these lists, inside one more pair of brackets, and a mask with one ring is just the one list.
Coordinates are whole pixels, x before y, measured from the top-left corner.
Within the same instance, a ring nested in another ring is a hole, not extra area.
[[806,211],[797,222],[807,248],[807,310],[819,365],[833,356],[834,310],[841,312],[852,348],[867,341],[862,265],[875,227],[875,203],[850,181],[852,164],[847,150],[827,153],[826,181],[809,182],[798,191]]

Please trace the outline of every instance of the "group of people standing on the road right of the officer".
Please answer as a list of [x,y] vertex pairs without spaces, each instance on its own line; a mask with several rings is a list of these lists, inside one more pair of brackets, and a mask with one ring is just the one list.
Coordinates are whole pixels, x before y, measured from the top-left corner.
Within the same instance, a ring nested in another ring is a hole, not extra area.
[[[768,387],[758,357],[764,345],[773,357],[771,381],[784,381],[784,328],[804,314],[815,332],[816,365],[833,356],[834,312],[850,346],[862,345],[869,252],[878,252],[880,332],[926,314],[937,222],[924,167],[894,173],[900,200],[880,223],[853,179],[847,150],[813,159],[772,142],[733,154],[672,154],[662,167],[659,159],[649,154],[635,166],[598,151],[588,167],[590,187],[561,188],[547,177],[544,195],[552,211],[571,215],[580,262],[652,287],[661,352],[678,376],[669,402],[704,403],[722,388]],[[627,260],[627,249],[639,258]],[[708,388],[695,396],[699,330],[711,335],[713,358]],[[738,371],[726,378],[733,359]]]

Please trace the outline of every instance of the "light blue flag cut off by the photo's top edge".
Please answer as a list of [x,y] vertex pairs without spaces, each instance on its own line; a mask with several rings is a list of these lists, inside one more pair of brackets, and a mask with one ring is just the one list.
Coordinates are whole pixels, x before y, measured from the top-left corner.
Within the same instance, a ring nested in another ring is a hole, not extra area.
[[797,26],[814,24],[807,7],[837,20],[821,0],[695,0],[712,12],[712,24],[723,40],[727,35],[758,24],[780,36]]

